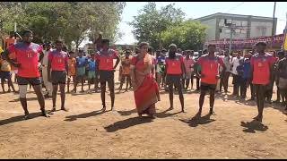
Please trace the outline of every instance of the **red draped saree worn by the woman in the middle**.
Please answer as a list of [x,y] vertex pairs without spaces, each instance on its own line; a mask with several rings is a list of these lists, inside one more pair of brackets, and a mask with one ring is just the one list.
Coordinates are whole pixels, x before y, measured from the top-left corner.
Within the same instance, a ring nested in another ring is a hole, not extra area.
[[144,69],[143,61],[135,64],[135,106],[138,114],[155,114],[155,103],[160,100],[157,82],[152,76],[152,64]]

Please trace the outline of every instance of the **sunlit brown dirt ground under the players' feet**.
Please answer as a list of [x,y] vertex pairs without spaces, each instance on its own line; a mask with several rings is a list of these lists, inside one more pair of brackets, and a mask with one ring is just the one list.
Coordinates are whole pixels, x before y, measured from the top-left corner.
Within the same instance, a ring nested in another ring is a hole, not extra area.
[[[106,96],[109,110],[109,92]],[[187,113],[179,113],[178,95],[174,97],[175,109],[167,111],[169,95],[161,91],[154,120],[137,117],[131,90],[117,93],[116,112],[106,113],[100,111],[100,93],[67,94],[65,105],[70,111],[57,111],[50,118],[39,116],[32,90],[27,97],[32,119],[22,121],[18,95],[0,94],[0,158],[287,157],[283,107],[266,105],[264,125],[258,124],[252,122],[257,115],[256,102],[236,100],[230,93],[217,94],[216,115],[210,117],[205,115],[209,110],[206,97],[199,121],[190,120],[198,110],[199,94],[194,89],[184,95]],[[57,109],[59,106],[58,96]],[[48,98],[46,109],[51,107]]]

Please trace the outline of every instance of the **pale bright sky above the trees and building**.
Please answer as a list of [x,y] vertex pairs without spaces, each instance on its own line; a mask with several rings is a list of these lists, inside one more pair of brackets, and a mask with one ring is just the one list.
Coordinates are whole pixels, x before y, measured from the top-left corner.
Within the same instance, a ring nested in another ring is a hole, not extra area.
[[[175,4],[176,8],[186,13],[186,18],[196,19],[213,13],[234,13],[264,17],[273,17],[274,2],[156,2],[158,9],[167,4]],[[117,44],[132,44],[135,38],[132,34],[133,28],[126,24],[133,21],[133,16],[143,8],[147,2],[126,2],[126,8],[122,14],[122,20],[118,25],[124,33],[122,39],[117,40]],[[287,2],[277,2],[275,17],[277,20],[276,34],[283,33],[286,24]]]

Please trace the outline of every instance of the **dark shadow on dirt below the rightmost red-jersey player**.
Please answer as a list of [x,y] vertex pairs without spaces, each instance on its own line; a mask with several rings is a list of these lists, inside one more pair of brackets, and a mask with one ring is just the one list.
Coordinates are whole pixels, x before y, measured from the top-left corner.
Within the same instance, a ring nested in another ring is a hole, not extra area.
[[268,126],[257,122],[256,120],[253,120],[252,122],[241,122],[240,125],[244,127],[245,129],[242,130],[244,132],[249,133],[256,133],[256,131],[266,131],[268,129]]

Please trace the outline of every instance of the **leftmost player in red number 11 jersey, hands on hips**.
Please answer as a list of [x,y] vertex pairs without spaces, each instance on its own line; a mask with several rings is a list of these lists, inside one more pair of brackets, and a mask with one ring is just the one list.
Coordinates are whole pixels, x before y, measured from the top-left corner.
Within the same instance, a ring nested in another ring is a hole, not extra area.
[[[22,42],[13,44],[4,51],[4,58],[18,68],[18,85],[20,92],[20,101],[22,108],[25,111],[24,119],[29,119],[29,111],[27,108],[27,85],[33,86],[38,97],[40,110],[42,115],[48,117],[45,111],[45,99],[42,94],[41,80],[38,70],[38,63],[43,58],[44,54],[42,48],[35,43],[32,43],[33,33],[31,30],[24,30],[22,32]],[[9,55],[15,53],[17,63],[14,63]],[[40,56],[39,56],[40,55]]]

